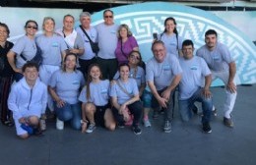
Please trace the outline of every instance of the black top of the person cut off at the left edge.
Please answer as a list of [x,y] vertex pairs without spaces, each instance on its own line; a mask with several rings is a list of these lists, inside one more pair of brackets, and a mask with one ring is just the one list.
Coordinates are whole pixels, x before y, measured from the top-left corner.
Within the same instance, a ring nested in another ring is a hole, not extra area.
[[5,63],[4,70],[2,72],[0,71],[0,77],[6,78],[6,77],[12,77],[14,75],[14,71],[7,60],[7,53],[13,46],[14,44],[9,41],[6,41],[5,47],[2,47],[0,45],[0,58],[2,58]]

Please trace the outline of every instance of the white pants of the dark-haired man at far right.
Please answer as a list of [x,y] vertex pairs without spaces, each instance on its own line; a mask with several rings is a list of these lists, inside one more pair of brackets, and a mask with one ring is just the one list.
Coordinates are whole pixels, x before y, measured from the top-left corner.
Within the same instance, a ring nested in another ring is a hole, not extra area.
[[[235,99],[236,99],[236,95],[237,92],[230,92],[227,89],[227,83],[228,83],[228,78],[229,78],[229,71],[225,71],[225,72],[212,72],[212,80],[216,80],[217,78],[219,78],[220,80],[222,80],[224,82],[224,90],[225,90],[225,101],[224,101],[224,117],[225,118],[230,118],[230,113],[233,110],[233,106],[235,103]],[[233,82],[235,83],[235,82]]]

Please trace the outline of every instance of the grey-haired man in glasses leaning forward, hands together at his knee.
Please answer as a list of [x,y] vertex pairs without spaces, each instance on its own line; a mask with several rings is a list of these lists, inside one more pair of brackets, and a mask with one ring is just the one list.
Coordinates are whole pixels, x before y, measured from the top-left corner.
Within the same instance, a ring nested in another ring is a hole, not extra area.
[[152,45],[154,57],[147,63],[146,79],[154,95],[152,108],[164,112],[163,131],[171,132],[173,114],[172,95],[181,79],[182,70],[176,56],[166,53],[164,43],[157,40]]

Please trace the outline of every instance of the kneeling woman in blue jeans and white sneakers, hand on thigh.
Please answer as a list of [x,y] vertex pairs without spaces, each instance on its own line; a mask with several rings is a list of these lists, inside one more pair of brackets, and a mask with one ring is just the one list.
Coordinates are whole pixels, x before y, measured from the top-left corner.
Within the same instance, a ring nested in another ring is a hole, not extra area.
[[68,53],[63,68],[55,71],[49,81],[48,90],[54,100],[57,130],[64,129],[70,121],[75,130],[81,129],[81,105],[78,100],[81,87],[85,84],[83,74],[77,68],[77,55]]

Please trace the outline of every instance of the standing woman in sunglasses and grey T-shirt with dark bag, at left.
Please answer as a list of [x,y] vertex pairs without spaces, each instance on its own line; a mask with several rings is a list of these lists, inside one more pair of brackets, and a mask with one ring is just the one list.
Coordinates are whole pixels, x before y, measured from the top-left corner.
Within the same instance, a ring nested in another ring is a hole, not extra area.
[[19,38],[14,47],[8,52],[8,62],[15,72],[14,79],[19,82],[23,78],[22,68],[27,61],[32,60],[37,48],[34,40],[38,25],[35,21],[29,20],[25,24],[26,34]]

